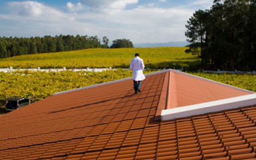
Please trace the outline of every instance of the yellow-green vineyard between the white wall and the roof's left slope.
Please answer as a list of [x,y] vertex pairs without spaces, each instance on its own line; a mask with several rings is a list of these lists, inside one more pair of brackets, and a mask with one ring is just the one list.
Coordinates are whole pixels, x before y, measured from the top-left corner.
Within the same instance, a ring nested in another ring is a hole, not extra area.
[[[147,74],[153,70],[145,71]],[[52,96],[56,92],[131,77],[126,70],[103,72],[0,72],[0,99],[10,96],[29,97],[36,100]]]

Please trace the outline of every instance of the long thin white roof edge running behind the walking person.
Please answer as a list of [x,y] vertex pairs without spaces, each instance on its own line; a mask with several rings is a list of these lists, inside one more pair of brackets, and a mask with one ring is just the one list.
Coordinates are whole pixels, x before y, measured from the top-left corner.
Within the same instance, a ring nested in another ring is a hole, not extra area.
[[[152,75],[155,75],[155,74],[161,74],[161,73],[165,73],[165,72],[170,72],[171,69],[168,69],[168,70],[162,70],[162,71],[158,71],[158,72],[152,72],[152,73],[149,73],[149,74],[145,74],[145,76],[152,76]],[[111,82],[105,82],[105,83],[101,83],[101,84],[94,84],[92,86],[85,86],[85,87],[81,87],[81,88],[76,88],[76,89],[72,89],[72,90],[65,90],[63,92],[57,92],[57,93],[54,93],[53,96],[56,96],[58,94],[65,94],[65,93],[68,93],[68,92],[75,92],[75,91],[78,91],[78,90],[85,90],[85,89],[88,89],[88,88],[94,88],[94,87],[97,87],[97,86],[104,86],[104,85],[107,85],[107,84],[113,84],[113,83],[117,83],[117,82],[123,82],[125,80],[132,80],[133,77],[129,77],[129,78],[123,78],[121,80],[114,80],[114,81],[111,81]]]

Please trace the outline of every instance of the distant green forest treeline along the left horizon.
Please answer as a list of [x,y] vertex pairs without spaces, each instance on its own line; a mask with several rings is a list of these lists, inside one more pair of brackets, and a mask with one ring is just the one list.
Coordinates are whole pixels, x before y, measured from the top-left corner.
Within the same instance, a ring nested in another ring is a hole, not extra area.
[[[109,39],[104,36],[87,35],[56,35],[52,37],[0,37],[0,58],[21,56],[26,54],[41,54],[83,50],[87,48],[109,48]],[[129,39],[116,39],[111,48],[133,48]]]

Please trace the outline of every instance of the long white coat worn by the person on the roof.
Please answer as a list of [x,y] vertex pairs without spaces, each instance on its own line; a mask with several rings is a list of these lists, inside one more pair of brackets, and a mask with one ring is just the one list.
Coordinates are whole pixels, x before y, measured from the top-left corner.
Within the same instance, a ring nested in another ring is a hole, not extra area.
[[130,68],[133,71],[133,80],[139,81],[144,80],[143,69],[145,68],[143,60],[136,56],[131,60]]

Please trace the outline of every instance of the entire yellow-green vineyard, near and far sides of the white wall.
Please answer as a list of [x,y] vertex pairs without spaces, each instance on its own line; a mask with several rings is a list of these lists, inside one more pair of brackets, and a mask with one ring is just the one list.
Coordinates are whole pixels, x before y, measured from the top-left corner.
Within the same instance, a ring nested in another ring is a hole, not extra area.
[[[129,63],[134,54],[139,53],[144,60],[146,68],[198,69],[200,65],[199,58],[186,54],[184,50],[186,48],[98,48],[72,52],[33,54],[1,59],[0,68],[9,66],[13,68],[129,68]],[[155,72],[155,69],[147,70],[144,74]],[[253,74],[188,73],[256,92],[256,75]],[[122,69],[104,72],[0,72],[0,106],[3,106],[5,98],[10,96],[32,96],[34,99],[40,100],[52,96],[56,92],[131,76],[131,70]]]

